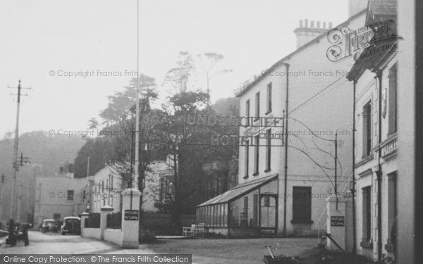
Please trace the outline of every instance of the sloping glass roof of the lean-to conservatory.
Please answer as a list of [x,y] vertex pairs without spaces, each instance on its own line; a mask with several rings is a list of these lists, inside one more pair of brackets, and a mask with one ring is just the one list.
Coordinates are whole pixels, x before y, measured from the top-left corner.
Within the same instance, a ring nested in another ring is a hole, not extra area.
[[257,180],[244,182],[242,184],[239,184],[233,187],[232,189],[229,189],[223,194],[220,194],[216,197],[213,197],[212,199],[209,199],[208,201],[205,201],[204,203],[199,204],[197,207],[210,206],[216,203],[228,203],[229,201],[232,201],[233,199],[238,198],[238,196],[245,194],[247,191],[252,191],[252,189],[257,189],[261,187],[262,185],[266,184],[267,182],[271,182],[272,180],[275,180],[277,177],[278,175],[270,175],[267,177],[259,178]]

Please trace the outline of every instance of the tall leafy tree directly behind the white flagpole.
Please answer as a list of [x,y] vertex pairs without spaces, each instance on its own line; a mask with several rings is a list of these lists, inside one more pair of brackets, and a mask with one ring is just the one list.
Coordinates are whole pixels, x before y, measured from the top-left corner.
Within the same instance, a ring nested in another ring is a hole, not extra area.
[[[138,92],[142,95],[140,100],[140,149],[138,175],[133,175],[135,153],[135,103]],[[78,174],[87,170],[87,158],[90,156],[90,175],[110,165],[122,178],[123,188],[135,187],[144,197],[145,177],[149,164],[162,158],[161,143],[157,140],[157,131],[154,124],[159,120],[157,110],[152,109],[151,102],[157,99],[154,78],[140,74],[139,79],[133,78],[130,84],[124,87],[123,92],[116,92],[109,96],[108,106],[100,113],[103,119],[100,136],[88,139],[82,147],[75,167]],[[97,120],[90,120],[90,128],[98,127]],[[137,177],[137,186],[134,177]],[[140,208],[142,206],[141,199]]]

